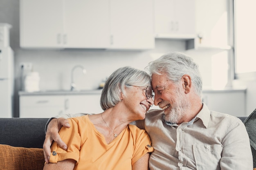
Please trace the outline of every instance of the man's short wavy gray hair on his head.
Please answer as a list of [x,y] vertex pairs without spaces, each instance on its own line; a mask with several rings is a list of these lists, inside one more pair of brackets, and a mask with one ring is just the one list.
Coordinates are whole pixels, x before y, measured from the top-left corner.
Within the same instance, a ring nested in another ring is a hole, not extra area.
[[146,69],[152,74],[167,73],[168,78],[178,83],[183,75],[191,77],[195,93],[202,97],[202,77],[198,65],[184,53],[172,52],[162,55],[159,59],[150,62]]

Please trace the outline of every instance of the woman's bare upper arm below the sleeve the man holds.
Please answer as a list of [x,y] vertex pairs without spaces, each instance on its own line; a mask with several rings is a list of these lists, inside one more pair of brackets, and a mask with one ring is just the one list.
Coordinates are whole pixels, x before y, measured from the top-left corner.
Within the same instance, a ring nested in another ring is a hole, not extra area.
[[57,163],[46,163],[43,170],[74,170],[75,164],[74,159],[66,159]]

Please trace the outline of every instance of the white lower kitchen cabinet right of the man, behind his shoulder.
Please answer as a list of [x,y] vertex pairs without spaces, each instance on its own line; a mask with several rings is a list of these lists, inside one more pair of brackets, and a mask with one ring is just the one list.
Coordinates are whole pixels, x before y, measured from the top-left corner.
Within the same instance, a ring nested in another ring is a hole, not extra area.
[[246,116],[246,90],[203,91],[203,102],[209,110],[232,116]]

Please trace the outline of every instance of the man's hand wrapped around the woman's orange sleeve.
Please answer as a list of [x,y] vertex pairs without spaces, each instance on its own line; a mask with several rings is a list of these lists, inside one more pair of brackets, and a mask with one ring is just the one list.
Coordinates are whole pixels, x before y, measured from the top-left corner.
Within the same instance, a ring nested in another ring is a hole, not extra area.
[[64,126],[65,128],[70,128],[68,120],[63,117],[58,119],[52,119],[48,124],[45,134],[45,142],[43,144],[43,152],[46,163],[49,163],[52,141],[55,141],[58,146],[60,146],[64,150],[67,150],[67,145],[61,140],[61,137],[58,134],[58,131],[61,129],[62,126]]

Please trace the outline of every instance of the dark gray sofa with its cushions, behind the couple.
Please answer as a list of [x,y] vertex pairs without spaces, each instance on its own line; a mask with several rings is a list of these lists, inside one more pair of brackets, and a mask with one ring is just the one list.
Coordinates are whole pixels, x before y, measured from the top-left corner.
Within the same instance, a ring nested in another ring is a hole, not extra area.
[[[251,126],[254,127],[255,124],[256,110],[249,117],[239,118],[248,128],[250,139],[251,136],[256,136],[254,130],[251,130]],[[0,167],[4,167],[4,170],[42,170],[44,164],[42,148],[47,120],[47,118],[0,118]],[[40,149],[35,151],[27,148]],[[252,152],[256,168],[256,151],[253,145]]]

